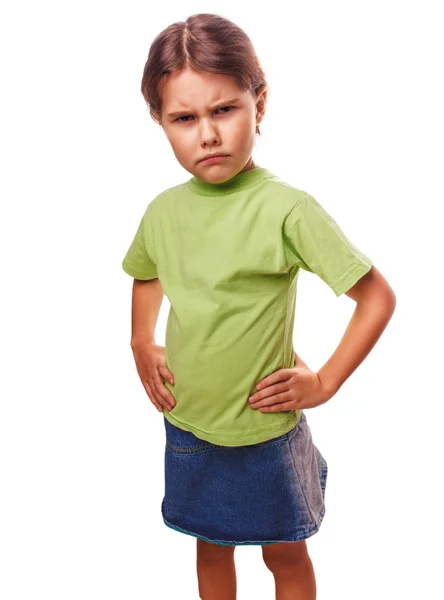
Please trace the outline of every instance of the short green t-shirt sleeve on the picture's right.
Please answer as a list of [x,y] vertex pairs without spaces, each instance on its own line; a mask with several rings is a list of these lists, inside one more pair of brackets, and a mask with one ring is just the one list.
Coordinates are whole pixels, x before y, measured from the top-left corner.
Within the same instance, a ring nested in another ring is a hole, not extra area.
[[287,265],[316,273],[336,296],[349,290],[373,265],[305,192],[284,219],[283,238]]

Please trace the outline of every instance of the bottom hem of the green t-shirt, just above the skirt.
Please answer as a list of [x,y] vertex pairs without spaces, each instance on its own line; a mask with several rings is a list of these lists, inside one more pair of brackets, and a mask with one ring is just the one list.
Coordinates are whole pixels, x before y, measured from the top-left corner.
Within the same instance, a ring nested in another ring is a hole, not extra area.
[[[301,412],[302,409],[290,411],[291,414],[286,421],[272,427],[262,427],[260,429],[232,433],[209,433],[198,427],[194,427],[194,425],[180,421],[166,409],[164,409],[163,414],[164,417],[176,427],[184,429],[185,431],[191,431],[196,437],[212,444],[219,446],[249,446],[251,444],[267,442],[272,438],[288,433],[299,422]],[[236,442],[235,444],[233,443],[234,441]]]

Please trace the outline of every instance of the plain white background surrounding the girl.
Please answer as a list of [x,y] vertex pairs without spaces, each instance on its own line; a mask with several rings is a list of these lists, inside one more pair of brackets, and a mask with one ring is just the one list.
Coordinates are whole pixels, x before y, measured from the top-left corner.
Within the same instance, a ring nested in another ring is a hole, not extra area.
[[[4,5],[2,599],[198,599],[195,538],[161,518],[163,417],[135,369],[121,269],[147,204],[191,177],[140,81],[155,35],[198,12],[243,27],[268,77],[256,163],[312,194],[397,296],[370,355],[306,411],[329,466],[307,541],[318,600],[444,596],[439,4]],[[301,272],[294,343],[313,370],[353,309]],[[274,598],[260,547],[235,556],[239,600]]]

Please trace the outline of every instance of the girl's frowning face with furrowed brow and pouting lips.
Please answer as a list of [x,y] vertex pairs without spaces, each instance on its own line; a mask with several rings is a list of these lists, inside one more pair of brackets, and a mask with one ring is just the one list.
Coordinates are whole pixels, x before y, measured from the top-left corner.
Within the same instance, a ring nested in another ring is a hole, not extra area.
[[[162,128],[189,173],[222,183],[256,168],[251,154],[263,115],[256,110],[257,99],[241,90],[234,77],[187,67],[166,77],[161,95]],[[202,162],[210,153],[227,156],[220,162]]]

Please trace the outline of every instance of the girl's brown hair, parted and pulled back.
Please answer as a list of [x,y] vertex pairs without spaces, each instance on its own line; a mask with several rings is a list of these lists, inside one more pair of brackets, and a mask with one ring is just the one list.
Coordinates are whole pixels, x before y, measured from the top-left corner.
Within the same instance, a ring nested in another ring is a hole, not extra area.
[[[238,25],[210,13],[191,15],[161,31],[152,42],[143,69],[141,92],[152,119],[160,125],[161,85],[169,73],[190,66],[196,71],[231,75],[254,98],[268,84],[253,44]],[[264,102],[262,96],[261,101]],[[259,125],[256,133],[260,135]]]

